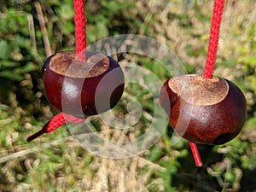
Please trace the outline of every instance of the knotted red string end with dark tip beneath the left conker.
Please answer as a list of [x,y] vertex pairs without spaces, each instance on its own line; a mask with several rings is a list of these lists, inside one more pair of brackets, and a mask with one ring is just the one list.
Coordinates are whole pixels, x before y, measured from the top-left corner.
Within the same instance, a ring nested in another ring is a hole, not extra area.
[[27,137],[26,141],[31,142],[35,138],[43,135],[44,133],[49,133],[52,131],[55,131],[57,128],[59,128],[61,125],[64,125],[66,123],[66,120],[71,123],[83,123],[84,119],[77,118],[69,114],[64,113],[58,113],[53,119],[50,119],[47,124],[44,125],[44,127],[34,133],[32,136]]

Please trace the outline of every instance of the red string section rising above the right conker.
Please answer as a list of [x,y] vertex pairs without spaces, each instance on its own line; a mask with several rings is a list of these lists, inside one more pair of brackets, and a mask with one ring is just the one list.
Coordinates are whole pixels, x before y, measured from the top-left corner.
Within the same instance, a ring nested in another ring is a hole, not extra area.
[[212,13],[212,27],[208,44],[207,62],[203,77],[206,79],[212,78],[213,67],[216,60],[218,49],[218,36],[221,24],[221,19],[224,11],[224,0],[215,0]]

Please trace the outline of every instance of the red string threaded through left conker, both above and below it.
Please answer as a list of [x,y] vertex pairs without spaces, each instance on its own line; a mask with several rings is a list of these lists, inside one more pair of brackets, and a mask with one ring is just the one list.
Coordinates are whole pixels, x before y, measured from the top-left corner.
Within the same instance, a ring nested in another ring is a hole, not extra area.
[[[75,11],[74,21],[75,21],[75,35],[76,35],[76,55],[77,55],[77,59],[79,59],[80,61],[85,61],[86,60],[85,24],[87,20],[85,18],[85,13],[84,13],[84,0],[74,0],[73,3],[74,3],[74,11]],[[84,54],[81,54],[83,52]],[[31,142],[33,139],[43,135],[44,133],[55,131],[61,125],[64,125],[66,123],[66,120],[72,123],[84,122],[84,119],[80,119],[72,115],[64,114],[61,112],[57,114],[53,119],[50,119],[49,122],[45,124],[40,131],[28,137],[26,141]]]

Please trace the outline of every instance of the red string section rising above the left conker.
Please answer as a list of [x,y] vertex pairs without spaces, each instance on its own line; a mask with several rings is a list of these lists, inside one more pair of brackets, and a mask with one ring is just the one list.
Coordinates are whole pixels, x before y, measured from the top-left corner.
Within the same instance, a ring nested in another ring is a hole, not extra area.
[[[73,3],[75,11],[76,54],[78,56],[86,48],[85,25],[87,20],[84,12],[84,0],[74,0]],[[85,61],[85,51],[83,55],[79,55],[79,60]]]

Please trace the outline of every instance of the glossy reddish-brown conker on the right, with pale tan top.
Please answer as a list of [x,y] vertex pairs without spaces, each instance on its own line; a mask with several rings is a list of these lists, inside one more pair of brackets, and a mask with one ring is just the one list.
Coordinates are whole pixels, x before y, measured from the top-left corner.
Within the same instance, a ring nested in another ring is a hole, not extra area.
[[160,105],[177,135],[204,144],[236,137],[247,113],[245,96],[235,84],[195,74],[168,79],[160,90]]

